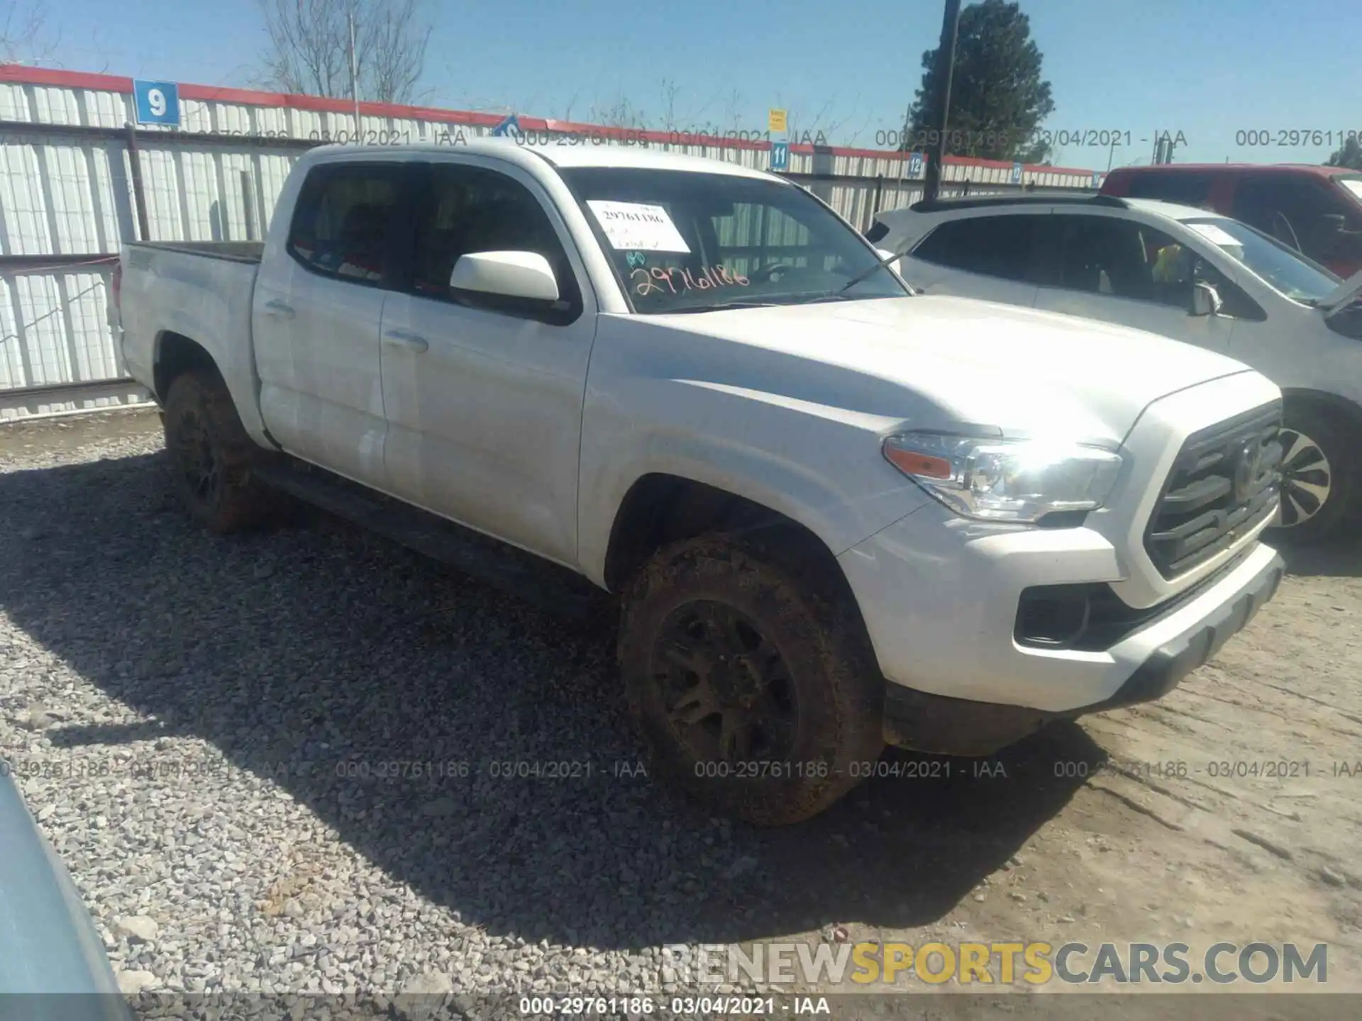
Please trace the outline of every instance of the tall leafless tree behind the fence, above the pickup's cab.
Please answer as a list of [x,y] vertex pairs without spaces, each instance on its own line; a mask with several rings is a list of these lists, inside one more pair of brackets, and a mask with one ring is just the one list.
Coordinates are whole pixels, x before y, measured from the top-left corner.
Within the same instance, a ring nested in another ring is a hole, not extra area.
[[430,22],[422,0],[259,0],[270,44],[263,83],[349,98],[350,16],[361,99],[411,102],[425,71]]

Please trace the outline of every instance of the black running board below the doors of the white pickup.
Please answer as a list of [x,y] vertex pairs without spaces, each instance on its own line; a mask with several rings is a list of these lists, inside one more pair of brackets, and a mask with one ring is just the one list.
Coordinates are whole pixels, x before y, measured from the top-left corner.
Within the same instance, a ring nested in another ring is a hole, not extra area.
[[609,595],[568,568],[287,455],[252,466],[264,485],[564,617],[591,619]]

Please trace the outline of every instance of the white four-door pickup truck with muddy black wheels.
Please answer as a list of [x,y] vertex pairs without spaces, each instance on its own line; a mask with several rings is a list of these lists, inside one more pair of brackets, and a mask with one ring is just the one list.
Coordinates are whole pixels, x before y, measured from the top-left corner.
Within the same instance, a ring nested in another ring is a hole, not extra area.
[[319,148],[263,245],[129,244],[113,291],[206,527],[285,490],[522,592],[616,596],[654,768],[763,825],[885,742],[982,756],[1156,698],[1283,572],[1265,377],[914,295],[730,163]]

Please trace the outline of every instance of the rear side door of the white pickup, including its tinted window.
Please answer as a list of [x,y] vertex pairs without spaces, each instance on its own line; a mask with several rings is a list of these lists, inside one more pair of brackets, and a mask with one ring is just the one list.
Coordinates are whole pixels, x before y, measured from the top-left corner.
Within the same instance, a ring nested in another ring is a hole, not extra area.
[[391,286],[400,167],[327,163],[298,195],[287,253],[253,302],[260,410],[286,451],[385,487],[379,327]]

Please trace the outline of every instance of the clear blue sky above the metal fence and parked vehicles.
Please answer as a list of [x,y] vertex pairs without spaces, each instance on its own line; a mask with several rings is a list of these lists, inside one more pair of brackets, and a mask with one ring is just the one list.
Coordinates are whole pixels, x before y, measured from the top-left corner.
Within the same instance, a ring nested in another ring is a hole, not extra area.
[[[661,123],[764,129],[836,125],[832,144],[898,128],[941,26],[937,0],[426,0],[429,105],[591,120],[628,98]],[[248,86],[266,44],[255,0],[61,0],[56,60],[69,69]],[[1113,166],[1148,161],[1155,131],[1177,162],[1323,162],[1333,144],[1238,146],[1235,132],[1362,132],[1362,0],[1023,0],[1054,90],[1053,131],[1130,132]],[[1141,139],[1147,139],[1141,142]],[[881,135],[883,140],[883,135]],[[1122,136],[1124,140],[1124,136]],[[1109,150],[1057,163],[1105,170]]]

